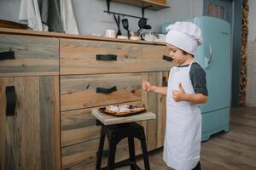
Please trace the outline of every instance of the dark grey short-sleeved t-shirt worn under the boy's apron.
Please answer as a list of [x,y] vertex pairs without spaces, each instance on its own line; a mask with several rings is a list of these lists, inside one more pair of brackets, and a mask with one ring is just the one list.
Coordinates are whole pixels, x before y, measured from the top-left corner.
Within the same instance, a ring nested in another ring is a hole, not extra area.
[[[189,65],[179,65],[178,67],[186,67]],[[201,68],[198,63],[193,63],[189,71],[189,77],[192,82],[195,94],[208,95],[206,72]]]

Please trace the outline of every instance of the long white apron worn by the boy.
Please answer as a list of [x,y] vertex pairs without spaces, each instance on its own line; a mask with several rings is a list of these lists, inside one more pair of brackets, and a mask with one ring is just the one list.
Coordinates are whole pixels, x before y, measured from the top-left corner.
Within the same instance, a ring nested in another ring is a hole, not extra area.
[[177,170],[191,170],[200,159],[201,110],[198,105],[176,102],[172,98],[172,90],[178,90],[180,82],[186,94],[195,94],[189,78],[192,63],[186,67],[172,67],[168,80],[164,161]]

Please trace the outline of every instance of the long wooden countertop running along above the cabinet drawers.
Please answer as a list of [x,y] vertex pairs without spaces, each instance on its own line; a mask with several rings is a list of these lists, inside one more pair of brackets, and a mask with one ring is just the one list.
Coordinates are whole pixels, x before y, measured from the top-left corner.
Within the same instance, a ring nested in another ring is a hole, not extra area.
[[141,43],[141,44],[154,44],[154,45],[166,45],[164,42],[146,42],[146,41],[135,41],[135,40],[123,40],[117,38],[108,37],[96,37],[90,35],[74,35],[66,33],[57,32],[44,32],[44,31],[29,31],[21,29],[11,29],[11,28],[0,28],[0,34],[18,34],[26,36],[40,36],[40,37],[63,37],[63,38],[73,38],[73,39],[86,39],[86,40],[101,40],[108,42],[131,42],[131,43]]

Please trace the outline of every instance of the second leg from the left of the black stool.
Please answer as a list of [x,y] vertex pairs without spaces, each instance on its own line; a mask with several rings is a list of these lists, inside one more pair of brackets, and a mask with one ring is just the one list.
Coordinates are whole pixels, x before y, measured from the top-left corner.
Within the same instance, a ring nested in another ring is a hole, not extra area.
[[116,151],[116,142],[111,136],[110,139],[108,139],[108,170],[114,169],[115,151]]

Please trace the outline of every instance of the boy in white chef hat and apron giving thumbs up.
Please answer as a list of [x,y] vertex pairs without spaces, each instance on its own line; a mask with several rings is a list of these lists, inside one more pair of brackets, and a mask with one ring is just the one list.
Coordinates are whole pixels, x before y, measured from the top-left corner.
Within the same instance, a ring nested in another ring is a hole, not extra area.
[[177,66],[172,67],[168,87],[143,82],[143,90],[166,95],[164,161],[177,170],[200,170],[201,111],[207,102],[206,73],[195,61],[201,30],[190,22],[166,28],[167,48]]

